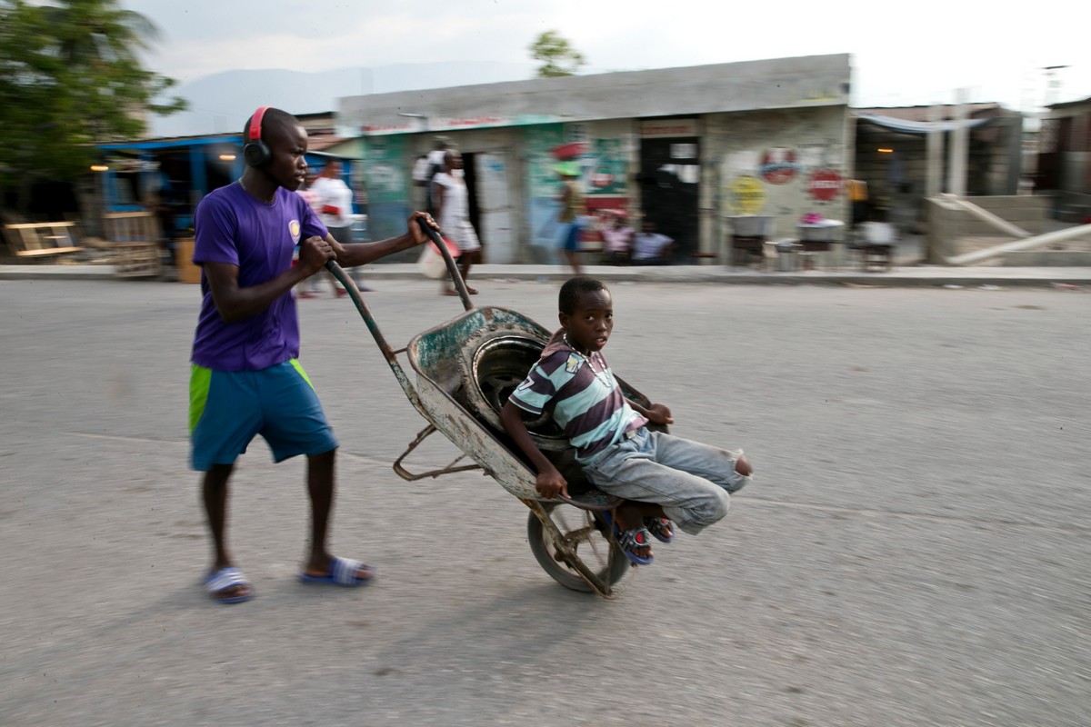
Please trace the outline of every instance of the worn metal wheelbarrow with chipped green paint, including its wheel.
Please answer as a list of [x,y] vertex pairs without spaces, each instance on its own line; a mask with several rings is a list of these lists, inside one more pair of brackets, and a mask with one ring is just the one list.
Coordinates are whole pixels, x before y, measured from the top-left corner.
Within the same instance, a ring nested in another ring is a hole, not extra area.
[[[530,549],[546,572],[566,587],[612,597],[614,584],[628,571],[631,562],[596,512],[620,500],[587,483],[567,439],[548,417],[528,422],[527,428],[538,448],[567,480],[572,497],[541,498],[535,489],[532,468],[500,422],[501,408],[538,360],[550,331],[515,311],[475,307],[447,246],[432,227],[424,222],[421,227],[444,257],[464,313],[419,334],[404,349],[389,347],[360,291],[341,267],[333,260],[326,265],[348,291],[406,397],[429,423],[394,462],[394,471],[405,480],[416,481],[483,470],[530,508]],[[398,354],[406,355],[410,371],[398,363]],[[620,378],[619,384],[628,399],[649,403]],[[435,432],[464,453],[445,468],[409,472],[403,461]],[[459,464],[466,457],[473,463]]]

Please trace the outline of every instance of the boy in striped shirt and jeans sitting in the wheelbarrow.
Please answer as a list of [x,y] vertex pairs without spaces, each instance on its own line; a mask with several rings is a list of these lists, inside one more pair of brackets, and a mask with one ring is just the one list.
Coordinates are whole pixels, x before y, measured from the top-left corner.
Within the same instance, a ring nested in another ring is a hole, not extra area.
[[613,303],[600,280],[570,279],[558,303],[561,329],[504,404],[501,421],[537,469],[538,494],[567,497],[564,476],[523,421],[527,414],[540,416],[552,403],[553,419],[575,448],[587,480],[625,500],[603,513],[622,552],[637,565],[650,564],[651,537],[670,543],[674,524],[696,535],[728,513],[728,494],[751,480],[750,461],[741,450],[648,429],[649,422],[674,420],[663,404],[645,408],[622,395],[602,356],[613,330]]

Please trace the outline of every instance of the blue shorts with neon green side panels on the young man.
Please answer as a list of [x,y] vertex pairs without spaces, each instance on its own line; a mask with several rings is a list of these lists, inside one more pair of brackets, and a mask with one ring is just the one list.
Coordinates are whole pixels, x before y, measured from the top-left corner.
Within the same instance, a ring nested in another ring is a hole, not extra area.
[[337,448],[311,380],[292,359],[262,371],[213,371],[190,376],[190,464],[205,472],[232,464],[260,434],[273,461]]

